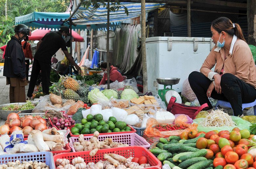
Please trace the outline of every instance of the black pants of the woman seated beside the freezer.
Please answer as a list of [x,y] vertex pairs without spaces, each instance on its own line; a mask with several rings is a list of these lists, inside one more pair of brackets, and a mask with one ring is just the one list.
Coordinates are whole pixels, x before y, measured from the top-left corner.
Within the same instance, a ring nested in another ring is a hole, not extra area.
[[[209,106],[207,110],[212,109],[212,105],[206,95],[212,81],[196,71],[188,76],[188,81],[200,105],[207,103]],[[221,88],[221,94],[213,89],[211,98],[228,101],[232,106],[235,116],[243,114],[242,103],[250,103],[256,99],[256,89],[230,73],[222,75]]]

